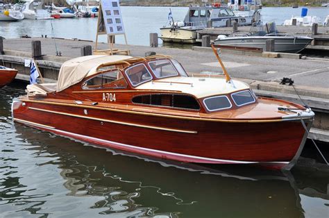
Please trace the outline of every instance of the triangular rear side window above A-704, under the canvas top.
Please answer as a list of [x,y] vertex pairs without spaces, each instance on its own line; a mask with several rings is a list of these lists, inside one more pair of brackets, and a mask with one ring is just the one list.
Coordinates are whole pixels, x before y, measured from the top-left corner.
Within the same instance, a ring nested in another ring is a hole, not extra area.
[[124,89],[127,87],[126,80],[119,70],[113,70],[99,74],[85,81],[82,85],[84,90],[88,89]]

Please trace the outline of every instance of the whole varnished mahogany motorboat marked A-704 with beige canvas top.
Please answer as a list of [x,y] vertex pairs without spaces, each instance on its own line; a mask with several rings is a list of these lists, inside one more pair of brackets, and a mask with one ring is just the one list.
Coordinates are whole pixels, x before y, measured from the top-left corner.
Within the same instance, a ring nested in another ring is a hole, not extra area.
[[[190,77],[169,56],[84,56],[58,83],[28,85],[14,120],[101,146],[180,162],[287,164],[314,113],[256,97],[241,81]],[[305,124],[305,128],[303,128]]]

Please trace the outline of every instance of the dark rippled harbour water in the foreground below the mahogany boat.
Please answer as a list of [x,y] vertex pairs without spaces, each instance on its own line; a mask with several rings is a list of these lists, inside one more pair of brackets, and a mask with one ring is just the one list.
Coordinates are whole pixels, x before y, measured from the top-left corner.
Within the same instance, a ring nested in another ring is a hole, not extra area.
[[0,90],[1,217],[328,217],[328,172],[164,162],[14,124]]

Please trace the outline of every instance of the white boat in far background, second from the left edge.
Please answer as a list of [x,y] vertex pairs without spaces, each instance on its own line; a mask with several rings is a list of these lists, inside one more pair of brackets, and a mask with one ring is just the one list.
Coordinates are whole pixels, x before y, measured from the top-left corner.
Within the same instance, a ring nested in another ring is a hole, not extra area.
[[32,0],[22,7],[26,19],[53,19],[51,12],[45,9],[44,1]]

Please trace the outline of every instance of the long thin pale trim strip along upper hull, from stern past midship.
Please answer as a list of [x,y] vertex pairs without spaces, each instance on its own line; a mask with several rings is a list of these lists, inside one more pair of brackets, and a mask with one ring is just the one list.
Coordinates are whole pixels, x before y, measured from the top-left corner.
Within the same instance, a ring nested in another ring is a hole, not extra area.
[[110,119],[101,119],[101,118],[96,118],[96,117],[87,117],[87,116],[83,116],[83,115],[74,115],[74,114],[67,113],[67,112],[58,112],[58,111],[53,111],[53,110],[41,109],[41,108],[33,108],[33,107],[28,107],[28,108],[31,109],[31,110],[38,110],[38,111],[42,111],[42,112],[51,112],[53,114],[58,114],[58,115],[66,115],[66,116],[71,116],[71,117],[92,119],[92,120],[96,120],[96,121],[105,121],[105,122],[112,123],[112,124],[121,124],[121,125],[126,125],[126,126],[136,126],[136,127],[141,127],[141,128],[151,128],[151,129],[156,129],[156,130],[161,130],[161,131],[170,131],[170,132],[176,132],[176,133],[189,133],[189,134],[198,133],[197,131],[184,131],[184,130],[175,129],[175,128],[164,128],[164,127],[158,127],[158,126],[132,124],[132,123],[127,123],[127,122],[123,122],[123,121],[115,121],[115,120],[110,120]]

